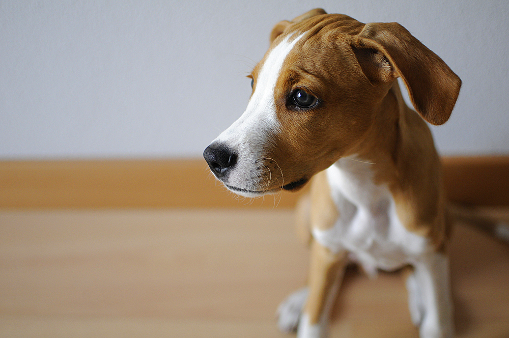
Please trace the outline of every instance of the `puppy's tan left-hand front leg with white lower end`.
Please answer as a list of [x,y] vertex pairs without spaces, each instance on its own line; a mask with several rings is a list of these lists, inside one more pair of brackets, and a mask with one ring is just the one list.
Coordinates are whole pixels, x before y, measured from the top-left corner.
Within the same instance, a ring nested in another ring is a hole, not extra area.
[[341,285],[346,252],[334,253],[317,241],[311,245],[307,299],[297,329],[298,338],[327,336],[329,316]]

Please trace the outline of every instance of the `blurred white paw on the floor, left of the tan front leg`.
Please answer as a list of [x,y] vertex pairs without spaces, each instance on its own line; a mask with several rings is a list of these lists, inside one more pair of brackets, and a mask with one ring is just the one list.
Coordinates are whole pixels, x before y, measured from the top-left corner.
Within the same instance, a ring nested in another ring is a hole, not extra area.
[[283,301],[277,308],[279,317],[277,326],[282,332],[290,333],[297,330],[300,314],[306,302],[308,289],[302,288]]

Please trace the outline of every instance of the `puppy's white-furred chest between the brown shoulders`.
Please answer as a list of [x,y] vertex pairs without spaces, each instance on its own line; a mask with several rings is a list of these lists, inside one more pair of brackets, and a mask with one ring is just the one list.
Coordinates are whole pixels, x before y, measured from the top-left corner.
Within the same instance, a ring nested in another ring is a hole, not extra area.
[[373,181],[372,164],[342,158],[327,170],[340,216],[314,238],[332,251],[348,250],[367,271],[393,270],[427,249],[428,240],[400,222],[389,189]]

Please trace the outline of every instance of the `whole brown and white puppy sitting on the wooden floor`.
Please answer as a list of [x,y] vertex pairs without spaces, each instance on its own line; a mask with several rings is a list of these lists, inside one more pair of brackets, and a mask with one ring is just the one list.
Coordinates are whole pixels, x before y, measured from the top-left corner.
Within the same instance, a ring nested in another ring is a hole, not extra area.
[[308,286],[280,305],[279,327],[325,337],[354,259],[373,273],[413,267],[406,285],[420,337],[453,336],[450,221],[425,121],[447,121],[461,80],[398,23],[315,9],[276,24],[270,40],[244,114],[204,157],[243,196],[297,190],[314,177],[300,203],[311,234]]

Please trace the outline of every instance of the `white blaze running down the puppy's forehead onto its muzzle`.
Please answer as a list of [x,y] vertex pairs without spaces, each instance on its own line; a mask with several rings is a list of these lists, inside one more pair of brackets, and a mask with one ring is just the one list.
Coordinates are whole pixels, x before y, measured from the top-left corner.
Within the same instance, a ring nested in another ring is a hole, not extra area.
[[250,178],[253,177],[253,172],[255,176],[263,175],[263,168],[259,168],[259,162],[255,162],[263,158],[262,152],[267,142],[270,142],[270,136],[280,128],[276,117],[274,89],[286,57],[302,36],[303,34],[292,41],[288,36],[270,51],[244,114],[213,141],[214,144],[227,146],[238,154],[234,171],[225,184],[249,191],[260,191],[264,188]]

